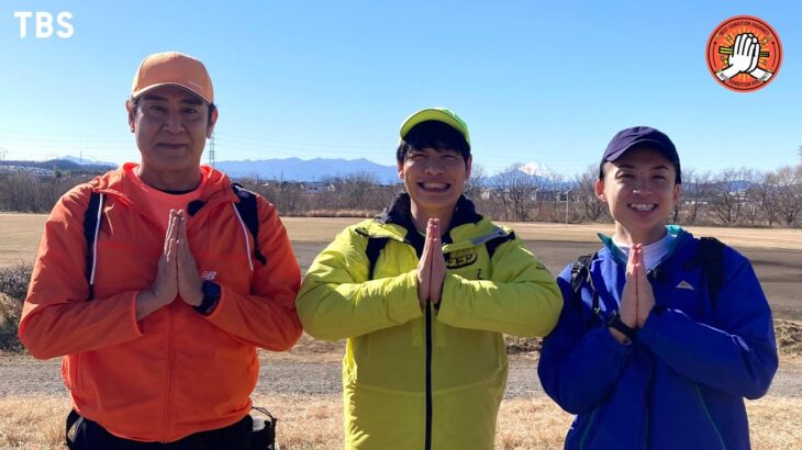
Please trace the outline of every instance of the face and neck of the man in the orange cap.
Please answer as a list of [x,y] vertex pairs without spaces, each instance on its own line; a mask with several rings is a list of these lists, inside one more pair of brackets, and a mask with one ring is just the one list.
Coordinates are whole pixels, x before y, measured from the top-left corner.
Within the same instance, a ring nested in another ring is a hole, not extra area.
[[[129,101],[129,125],[142,154],[141,177],[199,172],[207,137],[211,136],[216,110],[192,92],[163,86],[143,93],[136,104]],[[147,181],[146,181],[147,182]]]

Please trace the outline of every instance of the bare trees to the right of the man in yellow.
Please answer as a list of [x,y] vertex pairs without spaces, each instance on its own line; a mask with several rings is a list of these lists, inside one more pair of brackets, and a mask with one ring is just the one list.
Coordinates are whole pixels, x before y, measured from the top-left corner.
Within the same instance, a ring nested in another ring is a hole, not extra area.
[[[610,221],[595,195],[599,167],[573,180],[528,177],[513,165],[493,178],[486,211],[498,218],[544,222]],[[487,192],[487,191],[486,191]],[[483,200],[483,199],[482,199]],[[682,200],[672,222],[720,226],[802,226],[802,166],[773,171],[682,171]]]

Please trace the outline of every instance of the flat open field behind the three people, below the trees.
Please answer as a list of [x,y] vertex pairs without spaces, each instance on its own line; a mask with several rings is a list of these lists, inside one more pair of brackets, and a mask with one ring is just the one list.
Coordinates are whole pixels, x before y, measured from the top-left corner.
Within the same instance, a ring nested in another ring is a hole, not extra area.
[[[32,261],[46,216],[0,213],[0,268]],[[283,217],[301,269],[344,227],[358,222],[349,217]],[[580,255],[595,251],[598,232],[610,225],[505,223],[552,273],[559,273]],[[734,246],[753,262],[769,303],[778,318],[802,319],[802,229],[689,227],[697,236],[715,236]]]

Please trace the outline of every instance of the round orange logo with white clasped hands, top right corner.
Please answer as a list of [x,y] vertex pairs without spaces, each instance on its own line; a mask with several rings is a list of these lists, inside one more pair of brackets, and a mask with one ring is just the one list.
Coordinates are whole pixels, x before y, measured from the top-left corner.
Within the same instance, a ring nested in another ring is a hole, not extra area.
[[782,44],[768,23],[751,15],[736,15],[710,35],[706,57],[710,72],[721,85],[751,92],[777,78]]

